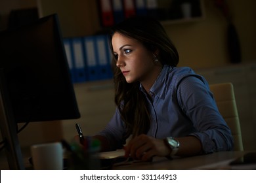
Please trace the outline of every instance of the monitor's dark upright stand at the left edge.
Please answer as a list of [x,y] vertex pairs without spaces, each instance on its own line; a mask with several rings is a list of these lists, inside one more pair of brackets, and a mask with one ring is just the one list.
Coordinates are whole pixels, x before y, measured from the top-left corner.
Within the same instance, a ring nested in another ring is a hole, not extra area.
[[9,169],[25,169],[3,69],[0,69],[0,129]]

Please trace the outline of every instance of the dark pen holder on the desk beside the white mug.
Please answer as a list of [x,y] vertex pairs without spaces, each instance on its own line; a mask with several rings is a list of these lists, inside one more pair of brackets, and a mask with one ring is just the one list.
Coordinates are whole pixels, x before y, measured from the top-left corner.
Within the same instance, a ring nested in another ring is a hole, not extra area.
[[96,170],[100,169],[100,159],[98,158],[99,144],[84,147],[80,144],[72,143],[72,152],[69,156],[68,169],[74,170]]

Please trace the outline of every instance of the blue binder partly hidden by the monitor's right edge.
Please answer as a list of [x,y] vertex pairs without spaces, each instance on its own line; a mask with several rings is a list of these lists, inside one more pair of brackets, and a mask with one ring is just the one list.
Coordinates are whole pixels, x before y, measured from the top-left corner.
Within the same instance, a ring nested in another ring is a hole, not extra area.
[[73,56],[72,56],[72,44],[71,44],[71,40],[66,38],[66,39],[63,39],[63,42],[64,42],[64,49],[65,49],[65,52],[66,52],[66,58],[67,58],[67,61],[68,61],[68,67],[70,69],[70,76],[71,76],[71,79],[72,79],[72,82],[75,83],[76,80],[75,80],[75,69],[74,69],[74,61],[73,61]]

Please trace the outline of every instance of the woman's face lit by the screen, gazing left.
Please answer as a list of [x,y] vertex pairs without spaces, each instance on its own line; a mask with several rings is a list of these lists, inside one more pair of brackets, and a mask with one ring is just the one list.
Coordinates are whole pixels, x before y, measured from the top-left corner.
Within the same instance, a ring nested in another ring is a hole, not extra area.
[[[114,33],[112,46],[119,67],[128,83],[139,81],[154,84],[160,73],[158,64],[154,63],[154,55],[139,41]],[[158,65],[158,66],[157,66]]]

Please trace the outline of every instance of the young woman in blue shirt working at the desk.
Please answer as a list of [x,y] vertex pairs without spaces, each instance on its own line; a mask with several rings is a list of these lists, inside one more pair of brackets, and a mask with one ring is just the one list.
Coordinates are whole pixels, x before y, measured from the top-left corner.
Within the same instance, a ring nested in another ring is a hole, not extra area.
[[161,24],[129,18],[112,29],[116,113],[95,138],[102,151],[123,148],[126,156],[194,156],[232,150],[229,127],[207,81],[177,67],[178,52]]

